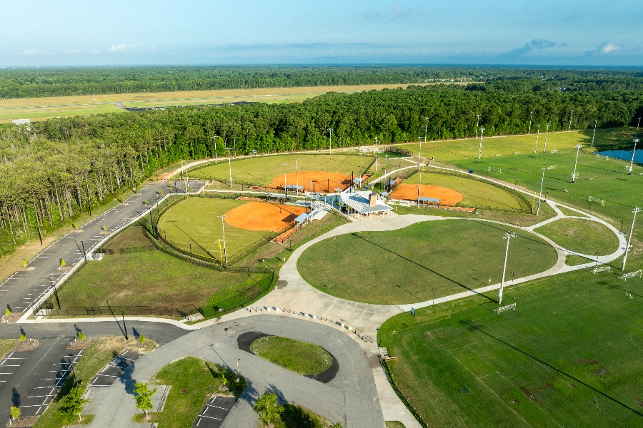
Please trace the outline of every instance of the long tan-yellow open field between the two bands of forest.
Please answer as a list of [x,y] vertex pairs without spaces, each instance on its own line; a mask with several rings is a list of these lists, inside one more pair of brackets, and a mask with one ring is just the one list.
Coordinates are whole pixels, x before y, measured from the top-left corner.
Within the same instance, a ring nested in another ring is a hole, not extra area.
[[126,112],[123,108],[119,108],[119,105],[145,108],[221,104],[234,103],[237,101],[295,103],[327,92],[351,93],[371,91],[373,89],[406,88],[407,86],[409,85],[304,86],[299,88],[254,88],[9,98],[0,100],[0,123],[7,123],[20,118],[42,121],[56,116]]

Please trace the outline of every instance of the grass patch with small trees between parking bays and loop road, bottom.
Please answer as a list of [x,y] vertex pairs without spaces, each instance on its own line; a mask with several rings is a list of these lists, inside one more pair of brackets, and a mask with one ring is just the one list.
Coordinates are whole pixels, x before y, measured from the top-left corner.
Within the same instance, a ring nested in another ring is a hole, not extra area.
[[[246,389],[246,379],[236,382],[236,374],[196,357],[184,357],[161,368],[151,379],[152,384],[170,385],[171,389],[163,412],[149,412],[149,423],[159,428],[191,428],[201,407],[212,394],[221,394],[221,375],[226,377],[230,392],[237,397]],[[181,393],[181,390],[186,390]],[[135,422],[143,422],[144,414],[137,414]]]

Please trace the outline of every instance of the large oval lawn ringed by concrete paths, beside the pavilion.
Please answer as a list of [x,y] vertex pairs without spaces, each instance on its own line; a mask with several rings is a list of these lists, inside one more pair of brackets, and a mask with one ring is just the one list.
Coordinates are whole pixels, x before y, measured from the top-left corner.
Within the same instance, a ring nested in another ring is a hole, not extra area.
[[[336,297],[382,305],[422,302],[432,299],[432,289],[442,297],[500,282],[507,230],[452,219],[350,233],[306,249],[297,266],[311,285]],[[509,245],[509,283],[557,261],[552,246],[531,233],[517,233]]]

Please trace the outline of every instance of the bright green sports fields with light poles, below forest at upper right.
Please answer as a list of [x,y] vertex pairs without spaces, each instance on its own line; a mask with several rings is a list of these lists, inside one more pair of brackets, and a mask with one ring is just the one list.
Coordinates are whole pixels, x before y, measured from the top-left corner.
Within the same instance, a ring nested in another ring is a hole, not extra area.
[[[629,135],[631,131],[632,135]],[[630,143],[634,136],[633,128],[598,130],[594,147],[614,148]],[[509,136],[484,138],[482,159],[477,159],[478,142],[474,140],[437,141],[422,145],[422,156],[434,156],[436,161],[456,165],[466,172],[468,168],[475,173],[505,180],[509,183],[529,188],[538,193],[542,178],[539,168],[555,166],[545,171],[543,197],[554,198],[569,203],[575,208],[589,211],[602,217],[611,218],[617,228],[621,222],[632,221],[632,208],[640,205],[639,195],[643,192],[643,167],[634,165],[632,175],[625,169],[629,162],[605,159],[589,153],[592,131],[549,133],[547,153],[542,153],[544,136],[540,135],[538,153],[534,153],[536,136]],[[572,172],[576,158],[576,144],[587,150],[579,153],[576,183],[572,183]],[[405,144],[403,148],[417,153],[419,145]],[[551,153],[557,150],[557,153]],[[512,154],[519,153],[519,154]],[[501,156],[495,156],[500,154]],[[489,172],[490,166],[502,168],[501,173]],[[604,200],[604,205],[589,202],[589,197]]]

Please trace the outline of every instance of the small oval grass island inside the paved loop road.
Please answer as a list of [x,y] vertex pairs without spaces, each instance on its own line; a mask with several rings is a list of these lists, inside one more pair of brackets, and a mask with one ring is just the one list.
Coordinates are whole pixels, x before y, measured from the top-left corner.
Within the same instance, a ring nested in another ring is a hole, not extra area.
[[260,337],[252,342],[250,350],[254,355],[297,374],[319,374],[332,363],[332,357],[324,348],[288,337]]

